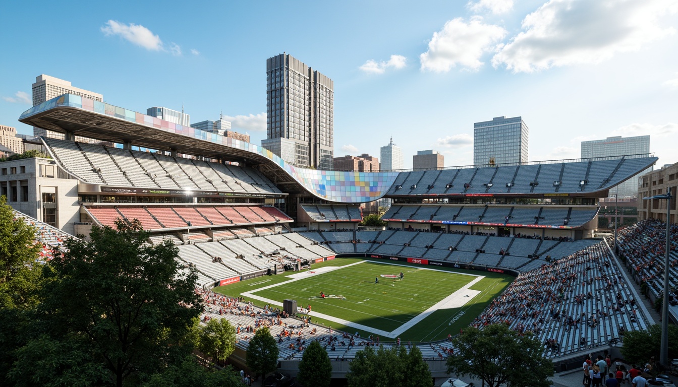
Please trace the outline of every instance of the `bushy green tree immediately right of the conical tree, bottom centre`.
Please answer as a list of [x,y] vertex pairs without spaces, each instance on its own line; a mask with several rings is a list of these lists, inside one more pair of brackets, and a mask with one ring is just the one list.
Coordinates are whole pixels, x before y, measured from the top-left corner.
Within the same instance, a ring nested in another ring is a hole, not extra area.
[[348,365],[346,380],[349,387],[402,386],[404,374],[399,348],[367,347],[356,352],[355,359]]

